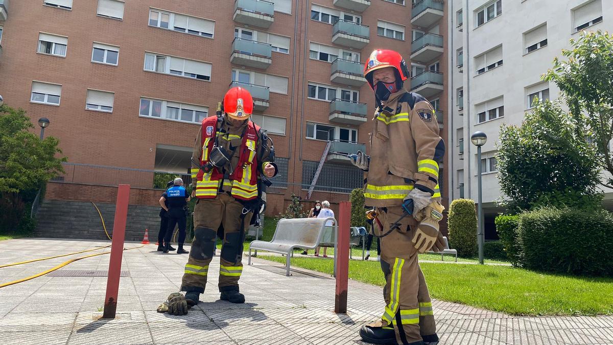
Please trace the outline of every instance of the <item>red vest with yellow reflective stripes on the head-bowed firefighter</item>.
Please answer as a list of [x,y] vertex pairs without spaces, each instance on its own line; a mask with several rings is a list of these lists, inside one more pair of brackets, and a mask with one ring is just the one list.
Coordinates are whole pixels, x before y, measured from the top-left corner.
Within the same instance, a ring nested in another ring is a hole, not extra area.
[[[217,135],[217,120],[216,116],[207,117],[202,120],[202,157],[200,157],[200,166],[205,166],[208,163],[208,157],[215,144]],[[213,130],[215,128],[215,130]],[[247,123],[243,141],[238,147],[238,164],[234,168],[234,173],[229,176],[229,179],[224,179],[223,173],[219,169],[211,169],[209,172],[204,172],[199,169],[196,182],[196,197],[200,199],[213,199],[217,196],[221,181],[223,180],[223,188],[230,191],[230,194],[238,200],[253,200],[257,198],[257,177],[259,171],[257,169],[257,133],[260,127],[255,125],[251,120]]]

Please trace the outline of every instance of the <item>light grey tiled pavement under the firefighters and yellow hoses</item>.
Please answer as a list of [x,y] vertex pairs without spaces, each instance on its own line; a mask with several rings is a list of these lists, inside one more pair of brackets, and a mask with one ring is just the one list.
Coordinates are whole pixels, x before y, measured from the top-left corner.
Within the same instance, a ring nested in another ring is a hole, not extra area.
[[[56,239],[0,241],[0,265],[107,245]],[[126,248],[139,246],[127,243]],[[189,250],[189,248],[188,248]],[[0,268],[0,284],[44,271],[88,252]],[[292,277],[276,263],[255,259],[240,280],[246,304],[219,300],[219,259],[210,267],[204,303],[186,316],[155,311],[178,290],[187,255],[159,254],[154,245],[124,252],[118,316],[101,314],[106,277],[43,276],[0,288],[2,344],[362,344],[359,328],[384,308],[381,287],[349,281],[348,314],[336,315],[335,281],[300,269]],[[245,258],[246,263],[246,258]],[[109,255],[74,262],[67,270],[107,270]],[[272,265],[272,266],[271,266]],[[434,301],[443,344],[613,344],[613,317],[511,317]],[[100,310],[99,310],[100,309]]]

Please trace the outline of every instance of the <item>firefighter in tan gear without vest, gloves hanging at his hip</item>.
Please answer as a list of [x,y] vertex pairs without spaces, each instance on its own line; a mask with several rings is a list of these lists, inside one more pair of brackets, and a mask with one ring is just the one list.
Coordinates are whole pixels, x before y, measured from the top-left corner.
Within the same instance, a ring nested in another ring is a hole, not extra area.
[[[417,254],[443,249],[438,231],[444,209],[438,167],[445,147],[432,105],[403,88],[408,76],[399,53],[371,53],[364,68],[377,106],[370,160],[362,152],[352,159],[354,165],[367,171],[365,204],[374,207],[370,212],[376,214],[375,235],[381,236],[381,269],[386,277],[383,316],[360,330],[362,339],[373,344],[438,343],[432,303]],[[403,204],[412,204],[412,214],[403,209]]]

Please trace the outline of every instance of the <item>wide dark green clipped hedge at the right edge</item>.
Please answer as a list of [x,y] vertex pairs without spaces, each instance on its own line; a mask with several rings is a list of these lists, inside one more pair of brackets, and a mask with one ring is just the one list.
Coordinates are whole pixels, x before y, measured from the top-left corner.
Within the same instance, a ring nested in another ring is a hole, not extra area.
[[613,276],[613,214],[542,207],[520,215],[522,264],[582,276]]

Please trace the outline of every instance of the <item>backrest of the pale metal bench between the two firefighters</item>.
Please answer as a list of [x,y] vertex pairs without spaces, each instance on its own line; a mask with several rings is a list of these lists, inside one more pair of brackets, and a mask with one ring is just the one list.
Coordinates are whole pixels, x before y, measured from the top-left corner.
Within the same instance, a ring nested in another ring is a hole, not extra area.
[[[276,223],[272,242],[316,246],[321,241],[326,222],[330,219],[334,220],[332,217],[281,219]],[[334,222],[336,223],[336,220]]]

